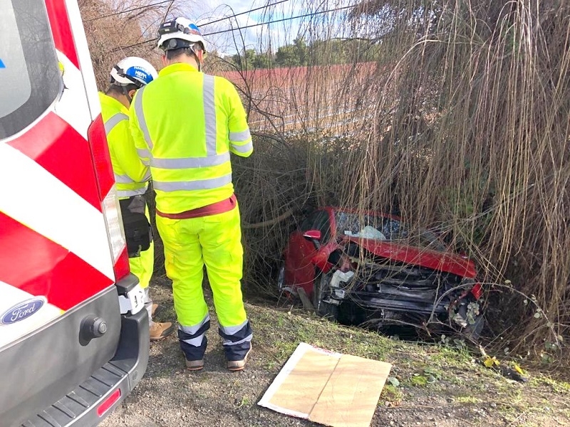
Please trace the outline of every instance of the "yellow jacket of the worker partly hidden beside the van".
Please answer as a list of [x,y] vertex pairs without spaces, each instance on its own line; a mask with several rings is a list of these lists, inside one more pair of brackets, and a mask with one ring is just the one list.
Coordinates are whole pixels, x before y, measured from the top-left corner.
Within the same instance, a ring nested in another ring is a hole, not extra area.
[[145,194],[150,170],[138,157],[129,130],[128,109],[104,93],[99,93],[99,101],[119,199]]

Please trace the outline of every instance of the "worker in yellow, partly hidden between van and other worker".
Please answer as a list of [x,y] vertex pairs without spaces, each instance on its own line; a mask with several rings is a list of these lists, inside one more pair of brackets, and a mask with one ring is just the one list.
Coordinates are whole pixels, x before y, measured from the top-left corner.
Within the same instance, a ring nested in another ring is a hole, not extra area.
[[[135,149],[135,142],[129,130],[128,107],[135,92],[154,80],[156,76],[155,68],[146,60],[135,57],[125,58],[111,70],[110,86],[106,93],[99,93],[101,115],[105,124],[113,172],[115,172],[115,185],[123,212],[123,221],[131,212],[138,212],[144,214],[147,219],[149,218],[143,194],[147,191],[150,170],[147,165],[140,162]],[[125,223],[125,231],[126,228]],[[150,238],[148,240],[150,241]],[[152,304],[148,285],[152,276],[154,258],[152,241],[146,251],[129,254],[130,271],[138,277],[141,287],[145,290],[145,306],[149,314],[151,341],[163,339],[175,331],[175,326],[171,322],[152,321],[157,305]]]

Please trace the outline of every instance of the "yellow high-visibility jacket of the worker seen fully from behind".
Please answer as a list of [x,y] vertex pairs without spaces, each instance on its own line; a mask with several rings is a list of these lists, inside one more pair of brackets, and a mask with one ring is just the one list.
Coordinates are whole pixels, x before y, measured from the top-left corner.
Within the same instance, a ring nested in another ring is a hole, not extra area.
[[253,152],[246,113],[228,80],[175,63],[135,94],[130,129],[150,164],[157,210],[178,214],[232,196],[229,153]]

